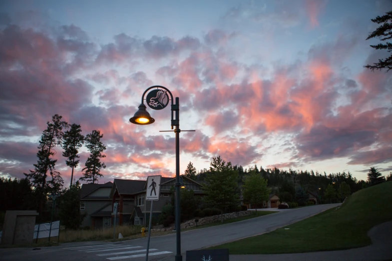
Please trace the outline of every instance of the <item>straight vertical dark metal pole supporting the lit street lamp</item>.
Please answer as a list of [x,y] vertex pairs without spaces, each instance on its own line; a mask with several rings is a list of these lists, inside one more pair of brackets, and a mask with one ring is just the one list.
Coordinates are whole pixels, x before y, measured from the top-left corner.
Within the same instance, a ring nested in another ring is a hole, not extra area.
[[181,255],[181,212],[180,212],[180,118],[179,118],[179,99],[176,97],[176,237],[177,237],[177,253],[175,261],[182,261]]

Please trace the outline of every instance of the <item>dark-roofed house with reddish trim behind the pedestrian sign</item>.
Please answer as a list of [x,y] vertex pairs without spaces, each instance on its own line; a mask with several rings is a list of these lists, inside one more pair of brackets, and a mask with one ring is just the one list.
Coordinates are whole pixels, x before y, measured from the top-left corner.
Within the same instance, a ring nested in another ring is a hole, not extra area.
[[[196,195],[202,195],[201,184],[181,175],[182,185],[193,189]],[[175,177],[162,177],[159,200],[153,203],[153,217],[158,217],[163,206],[171,202],[171,187],[174,187]],[[110,191],[111,209],[113,204],[119,203],[116,223],[146,224],[150,216],[151,201],[146,200],[147,180],[114,179]]]

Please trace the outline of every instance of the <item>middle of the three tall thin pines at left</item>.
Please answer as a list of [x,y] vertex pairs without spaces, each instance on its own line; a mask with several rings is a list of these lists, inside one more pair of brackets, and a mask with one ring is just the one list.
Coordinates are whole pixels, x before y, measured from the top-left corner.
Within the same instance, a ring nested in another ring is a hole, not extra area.
[[71,185],[74,177],[74,168],[79,164],[79,148],[83,145],[85,136],[81,134],[80,125],[73,123],[71,129],[64,132],[63,136],[63,156],[68,157],[66,164],[72,167]]

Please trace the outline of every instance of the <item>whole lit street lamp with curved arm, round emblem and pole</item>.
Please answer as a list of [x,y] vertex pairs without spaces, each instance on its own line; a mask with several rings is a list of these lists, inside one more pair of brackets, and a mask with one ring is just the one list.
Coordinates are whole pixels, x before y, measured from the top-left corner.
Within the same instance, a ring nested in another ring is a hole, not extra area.
[[[153,89],[147,94],[146,102],[147,105],[152,109],[163,109],[171,100],[171,127],[175,127],[174,130],[161,130],[161,131],[174,131],[176,133],[176,246],[177,252],[175,261],[182,261],[181,255],[181,229],[180,229],[180,116],[179,116],[179,98],[176,97],[176,103],[173,102],[173,94],[170,90],[164,86],[154,85],[148,87],[142,95],[142,103],[139,105],[138,111],[134,114],[132,118],[129,119],[130,122],[138,125],[147,125],[155,121],[151,117],[150,113],[146,110],[146,105],[144,105],[144,96],[148,90]],[[168,96],[170,94],[170,98]],[[183,131],[195,131],[195,130],[183,130]]]

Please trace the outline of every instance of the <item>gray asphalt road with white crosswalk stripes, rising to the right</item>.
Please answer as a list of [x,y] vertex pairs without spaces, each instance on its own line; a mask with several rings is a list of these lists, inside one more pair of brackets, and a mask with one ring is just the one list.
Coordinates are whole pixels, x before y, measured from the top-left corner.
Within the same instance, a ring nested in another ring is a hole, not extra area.
[[[247,219],[240,222],[212,226],[181,233],[181,252],[185,260],[187,250],[221,244],[240,238],[262,234],[278,227],[302,220],[339,204],[314,205]],[[64,243],[61,246],[34,248],[0,249],[1,261],[69,261],[69,260],[145,260],[147,238],[116,243],[78,242]],[[154,250],[153,250],[154,249]],[[149,260],[174,260],[176,253],[176,234],[152,237]]]

